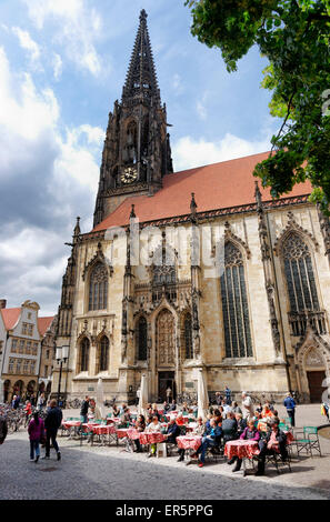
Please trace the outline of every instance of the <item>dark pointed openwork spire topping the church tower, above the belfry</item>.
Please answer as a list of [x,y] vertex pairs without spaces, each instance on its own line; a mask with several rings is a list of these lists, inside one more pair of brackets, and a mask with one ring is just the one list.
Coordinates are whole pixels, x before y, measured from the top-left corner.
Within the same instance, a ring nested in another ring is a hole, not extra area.
[[140,26],[122,90],[122,101],[153,100],[160,103],[160,91],[147,27],[147,12],[140,12]]

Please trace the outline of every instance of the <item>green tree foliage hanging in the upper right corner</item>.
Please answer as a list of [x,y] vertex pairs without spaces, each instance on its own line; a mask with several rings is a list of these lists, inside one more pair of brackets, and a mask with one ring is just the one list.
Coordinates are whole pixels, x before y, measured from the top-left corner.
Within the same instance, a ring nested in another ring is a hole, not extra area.
[[261,86],[282,118],[269,158],[254,175],[273,198],[307,179],[311,201],[329,215],[330,0],[187,0],[191,32],[221,50],[229,72],[257,44],[269,60]]

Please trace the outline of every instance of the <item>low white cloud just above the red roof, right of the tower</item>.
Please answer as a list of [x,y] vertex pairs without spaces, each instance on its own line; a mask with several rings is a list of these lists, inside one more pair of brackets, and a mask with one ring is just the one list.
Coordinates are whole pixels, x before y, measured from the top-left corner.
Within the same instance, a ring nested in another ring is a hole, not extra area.
[[269,148],[270,135],[260,141],[243,140],[230,133],[219,141],[194,140],[187,135],[174,143],[172,155],[176,171],[180,171],[264,152]]

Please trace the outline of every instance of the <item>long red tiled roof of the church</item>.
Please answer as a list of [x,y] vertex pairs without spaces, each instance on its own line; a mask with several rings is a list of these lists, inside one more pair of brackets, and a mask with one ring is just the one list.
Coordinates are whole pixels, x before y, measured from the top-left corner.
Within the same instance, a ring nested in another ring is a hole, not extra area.
[[[127,198],[93,232],[128,224],[132,204],[140,222],[189,214],[191,192],[194,192],[198,212],[253,203],[254,181],[258,178],[252,172],[256,164],[268,157],[269,152],[263,152],[167,174],[162,189],[154,195]],[[259,188],[263,201],[271,200],[270,189],[262,189],[260,180]],[[311,184],[307,181],[296,184],[286,197],[309,194],[311,191]]]

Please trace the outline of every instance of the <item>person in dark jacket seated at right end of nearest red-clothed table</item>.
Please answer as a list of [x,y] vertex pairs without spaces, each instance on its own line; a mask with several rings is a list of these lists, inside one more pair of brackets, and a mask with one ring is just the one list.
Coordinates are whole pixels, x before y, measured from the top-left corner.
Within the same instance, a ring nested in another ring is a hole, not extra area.
[[256,475],[264,474],[264,462],[266,455],[280,453],[283,461],[288,459],[288,451],[286,448],[287,435],[279,429],[279,419],[270,419],[268,424],[270,426],[269,432],[264,439],[259,441],[260,453],[258,455],[258,470]]

